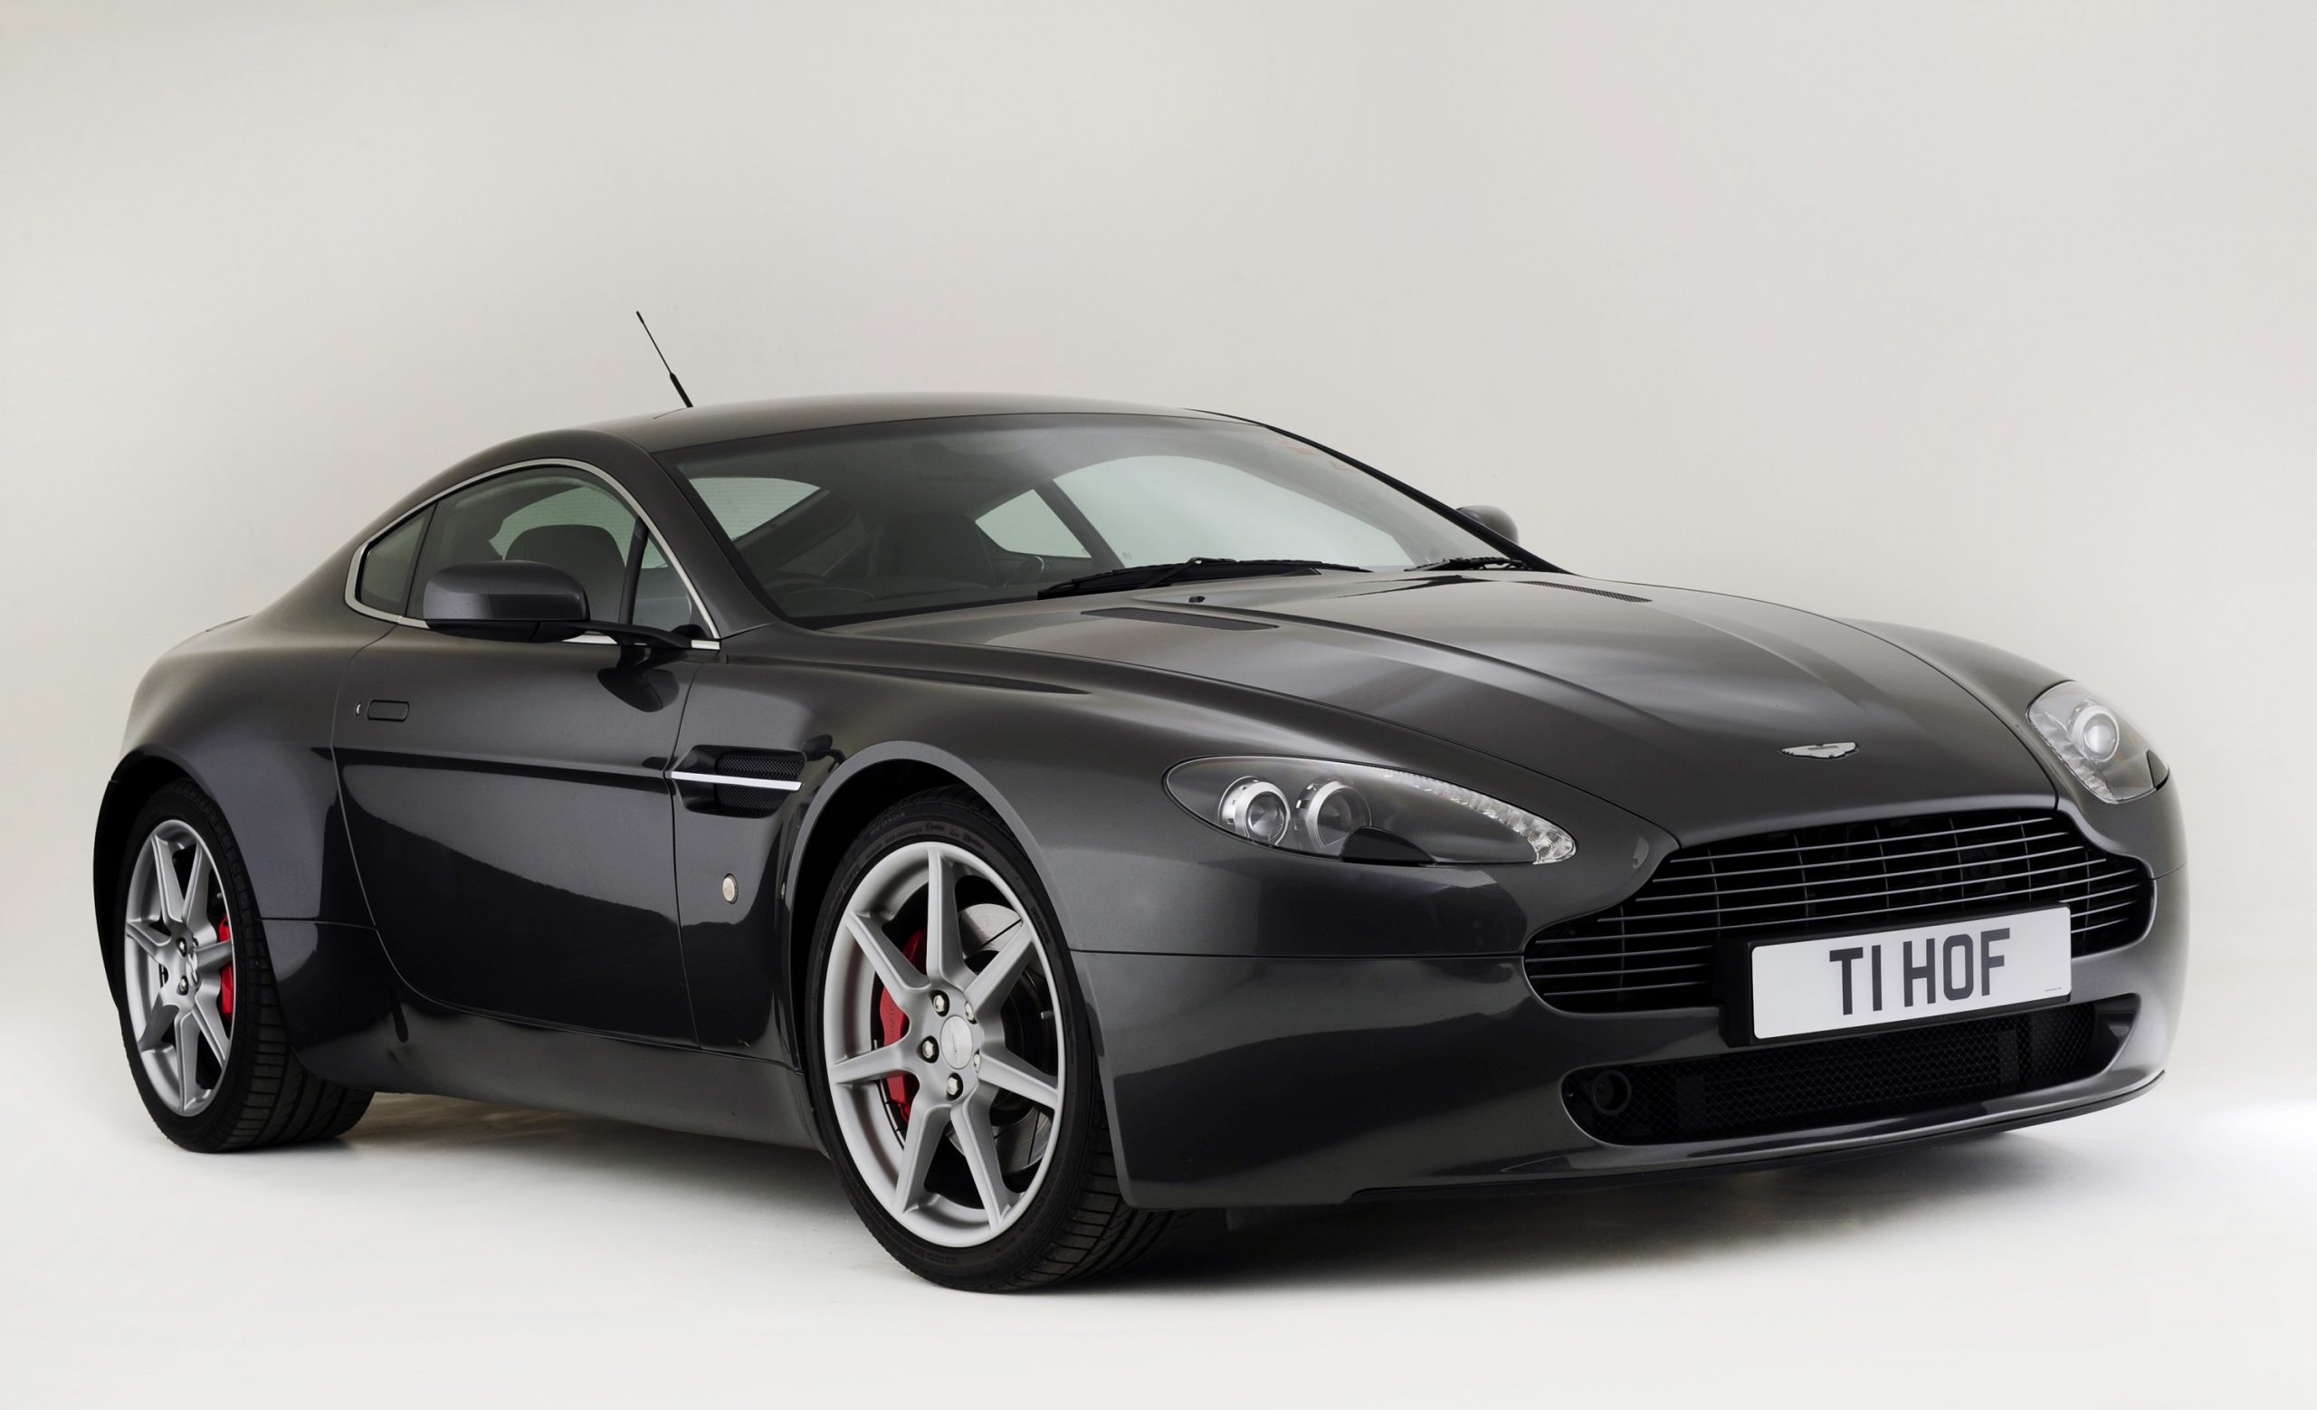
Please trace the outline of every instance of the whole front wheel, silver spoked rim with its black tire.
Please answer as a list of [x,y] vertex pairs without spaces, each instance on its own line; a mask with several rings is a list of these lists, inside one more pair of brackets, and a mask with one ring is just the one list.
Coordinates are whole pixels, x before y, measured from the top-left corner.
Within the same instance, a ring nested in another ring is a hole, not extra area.
[[820,1134],[887,1253],[1006,1292],[1140,1257],[1165,1213],[1119,1197],[1084,1005],[1029,859],[971,792],[883,813],[813,940]]

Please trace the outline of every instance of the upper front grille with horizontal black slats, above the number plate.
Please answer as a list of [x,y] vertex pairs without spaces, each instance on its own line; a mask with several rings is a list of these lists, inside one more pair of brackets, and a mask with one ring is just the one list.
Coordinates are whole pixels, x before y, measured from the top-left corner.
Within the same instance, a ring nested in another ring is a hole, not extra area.
[[1724,940],[1807,940],[2067,905],[2074,952],[2141,938],[2148,868],[2057,813],[1942,813],[1682,847],[1622,903],[1538,931],[1525,968],[1557,1009],[1715,1003]]

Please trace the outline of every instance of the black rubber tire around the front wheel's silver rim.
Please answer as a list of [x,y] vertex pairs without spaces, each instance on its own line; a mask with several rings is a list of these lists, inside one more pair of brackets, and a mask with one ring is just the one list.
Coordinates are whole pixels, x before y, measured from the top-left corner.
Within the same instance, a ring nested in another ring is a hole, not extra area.
[[[996,1239],[973,1248],[943,1248],[908,1232],[885,1211],[878,1195],[853,1165],[843,1132],[834,1116],[834,1093],[820,1047],[820,996],[827,984],[836,926],[843,903],[853,896],[862,875],[894,847],[943,840],[964,847],[987,861],[1015,896],[1036,915],[1031,921],[1047,938],[1050,961],[1057,984],[1064,989],[1061,1030],[1066,1049],[1066,1077],[1061,1084],[1064,1114],[1054,1132],[1054,1148],[1031,1206]],[[1165,1211],[1133,1209],[1119,1195],[1117,1155],[1110,1141],[1110,1123],[1103,1116],[1103,1090],[1094,1070],[1094,1037],[1087,1026],[1087,1005],[1077,991],[1054,924],[1052,905],[1029,866],[1029,857],[1013,833],[971,790],[950,787],[904,799],[880,813],[853,840],[836,875],[825,891],[823,915],[813,926],[813,963],[806,993],[797,1009],[806,1016],[804,1056],[813,1084],[813,1111],[820,1139],[836,1165],[836,1178],[846,1197],[860,1213],[869,1232],[885,1246],[904,1269],[966,1292],[1019,1292],[1045,1287],[1070,1278],[1110,1273],[1149,1253],[1172,1216]]]

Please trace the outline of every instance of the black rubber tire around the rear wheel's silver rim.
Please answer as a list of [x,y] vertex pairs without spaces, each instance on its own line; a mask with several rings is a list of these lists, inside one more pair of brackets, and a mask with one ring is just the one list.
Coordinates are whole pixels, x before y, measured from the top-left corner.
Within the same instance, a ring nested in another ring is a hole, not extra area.
[[[218,880],[225,887],[225,905],[232,915],[234,935],[234,1028],[232,1051],[218,1079],[215,1097],[202,1111],[181,1116],[153,1090],[146,1065],[137,1053],[137,1019],[130,1016],[123,993],[120,931],[127,924],[127,891],[137,852],[162,822],[183,822],[215,859]],[[283,1028],[280,1000],[273,989],[273,959],[266,952],[264,921],[257,919],[257,896],[250,891],[250,873],[241,864],[241,847],[225,827],[218,806],[188,780],[158,790],[137,822],[127,831],[130,845],[120,857],[114,880],[114,924],[104,942],[104,975],[114,991],[114,1009],[120,1014],[120,1047],[130,1060],[130,1077],[137,1095],[144,1097],[146,1114],[165,1137],[188,1151],[257,1151],[262,1146],[292,1146],[299,1141],[327,1141],[341,1137],[371,1104],[371,1093],[322,1081],[290,1051],[290,1035]]]

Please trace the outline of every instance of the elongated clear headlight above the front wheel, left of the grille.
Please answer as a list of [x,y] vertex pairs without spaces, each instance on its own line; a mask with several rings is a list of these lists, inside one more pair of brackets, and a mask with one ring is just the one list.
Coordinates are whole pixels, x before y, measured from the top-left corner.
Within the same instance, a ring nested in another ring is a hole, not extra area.
[[1576,838],[1534,813],[1372,764],[1191,759],[1168,771],[1165,787],[1200,822],[1281,852],[1457,866],[1532,866],[1578,852]]

